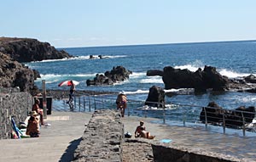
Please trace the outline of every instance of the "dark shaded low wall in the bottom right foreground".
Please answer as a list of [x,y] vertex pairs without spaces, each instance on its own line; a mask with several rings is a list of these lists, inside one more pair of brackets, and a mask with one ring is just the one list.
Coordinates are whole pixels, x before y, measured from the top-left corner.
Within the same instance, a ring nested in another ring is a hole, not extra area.
[[198,148],[182,148],[181,146],[165,146],[164,144],[152,144],[154,161],[158,162],[238,162],[225,154],[207,152]]

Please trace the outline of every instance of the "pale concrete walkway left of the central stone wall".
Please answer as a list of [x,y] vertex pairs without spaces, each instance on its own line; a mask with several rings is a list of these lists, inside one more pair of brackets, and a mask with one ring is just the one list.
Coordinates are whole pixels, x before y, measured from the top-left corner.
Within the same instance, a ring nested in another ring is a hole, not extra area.
[[70,161],[90,117],[85,113],[53,112],[46,120],[51,126],[42,126],[40,137],[0,140],[0,161]]

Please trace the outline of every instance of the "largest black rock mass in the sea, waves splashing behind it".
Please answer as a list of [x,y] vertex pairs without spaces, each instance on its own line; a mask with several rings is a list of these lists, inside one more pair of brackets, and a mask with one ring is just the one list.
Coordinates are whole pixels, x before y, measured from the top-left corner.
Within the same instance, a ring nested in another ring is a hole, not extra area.
[[172,88],[195,88],[195,92],[224,91],[228,88],[229,80],[220,75],[216,68],[205,66],[204,70],[195,72],[189,70],[174,69],[171,66],[164,68],[163,81],[166,89]]

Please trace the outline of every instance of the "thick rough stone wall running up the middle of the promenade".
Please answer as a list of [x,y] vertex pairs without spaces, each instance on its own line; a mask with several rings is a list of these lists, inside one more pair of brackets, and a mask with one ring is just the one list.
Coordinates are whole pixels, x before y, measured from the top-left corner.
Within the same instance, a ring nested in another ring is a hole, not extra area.
[[122,161],[124,125],[120,113],[99,110],[92,115],[73,161]]

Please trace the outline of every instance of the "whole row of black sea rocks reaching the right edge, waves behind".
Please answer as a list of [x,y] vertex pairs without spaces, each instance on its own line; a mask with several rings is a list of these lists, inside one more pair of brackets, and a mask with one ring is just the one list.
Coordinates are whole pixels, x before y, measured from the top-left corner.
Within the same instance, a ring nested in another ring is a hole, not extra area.
[[[194,88],[195,92],[227,91],[255,92],[256,76],[248,75],[240,78],[228,78],[220,75],[215,67],[205,66],[195,72],[190,70],[174,69],[166,66],[164,70],[148,70],[148,76],[160,75],[165,83],[165,89]],[[249,83],[249,84],[248,84]]]

